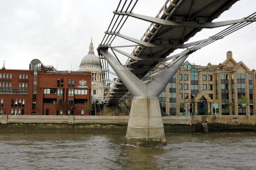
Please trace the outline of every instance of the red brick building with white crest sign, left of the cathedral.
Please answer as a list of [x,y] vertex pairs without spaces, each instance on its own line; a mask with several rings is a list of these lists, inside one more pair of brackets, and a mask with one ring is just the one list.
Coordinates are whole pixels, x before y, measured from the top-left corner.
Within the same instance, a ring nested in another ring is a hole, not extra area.
[[[33,59],[29,70],[0,70],[0,114],[88,115],[90,72],[56,71]],[[87,107],[88,108],[88,107]]]

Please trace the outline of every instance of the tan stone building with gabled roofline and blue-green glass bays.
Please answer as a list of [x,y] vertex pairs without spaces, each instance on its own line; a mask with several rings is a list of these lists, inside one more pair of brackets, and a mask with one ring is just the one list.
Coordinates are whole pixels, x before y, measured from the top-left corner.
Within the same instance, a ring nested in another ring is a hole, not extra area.
[[256,72],[227,52],[219,65],[186,61],[159,95],[163,115],[255,115]]

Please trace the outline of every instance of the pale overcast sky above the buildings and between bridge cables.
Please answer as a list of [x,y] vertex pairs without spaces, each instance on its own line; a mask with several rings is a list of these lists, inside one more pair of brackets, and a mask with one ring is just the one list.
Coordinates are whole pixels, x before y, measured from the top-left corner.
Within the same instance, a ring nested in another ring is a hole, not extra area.
[[[164,1],[140,0],[133,12],[155,17]],[[58,63],[58,70],[78,70],[91,37],[96,53],[117,4],[118,0],[0,0],[0,66],[5,60],[6,69],[28,70],[30,61],[37,58],[55,68]],[[255,11],[255,0],[241,0],[215,21],[241,19]],[[130,17],[120,33],[139,39],[148,26]],[[189,41],[208,38],[222,29],[201,31]],[[237,62],[243,61],[252,70],[256,68],[255,30],[256,22],[194,52],[188,61],[222,63],[231,50]],[[131,44],[120,38],[114,44],[124,43]]]

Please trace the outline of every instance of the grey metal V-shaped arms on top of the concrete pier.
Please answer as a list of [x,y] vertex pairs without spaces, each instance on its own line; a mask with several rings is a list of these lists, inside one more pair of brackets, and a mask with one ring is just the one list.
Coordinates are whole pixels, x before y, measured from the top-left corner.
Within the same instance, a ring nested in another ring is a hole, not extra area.
[[99,50],[100,55],[106,58],[109,65],[112,66],[118,77],[122,79],[123,84],[131,92],[133,97],[158,97],[182,63],[188,58],[189,54],[194,52],[194,50],[187,50],[188,52],[175,59],[172,66],[164,69],[163,72],[157,75],[156,79],[146,85],[128,68],[121,65],[115,56],[108,52],[106,47],[99,47],[97,50]]

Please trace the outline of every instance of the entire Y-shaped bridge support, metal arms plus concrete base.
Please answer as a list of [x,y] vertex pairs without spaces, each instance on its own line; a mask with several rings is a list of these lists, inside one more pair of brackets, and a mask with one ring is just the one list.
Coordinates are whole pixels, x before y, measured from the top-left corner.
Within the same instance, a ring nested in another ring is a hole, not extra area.
[[118,60],[108,52],[107,48],[99,48],[100,55],[107,59],[122,83],[130,91],[132,96],[131,112],[126,132],[125,144],[154,147],[165,145],[163,120],[161,116],[158,97],[168,84],[173,75],[184,63],[189,54],[188,51],[175,59],[169,68],[154,79],[150,84],[144,84],[128,68],[121,65]]

